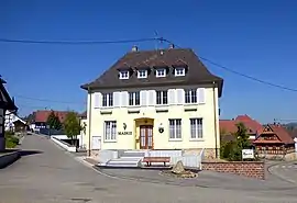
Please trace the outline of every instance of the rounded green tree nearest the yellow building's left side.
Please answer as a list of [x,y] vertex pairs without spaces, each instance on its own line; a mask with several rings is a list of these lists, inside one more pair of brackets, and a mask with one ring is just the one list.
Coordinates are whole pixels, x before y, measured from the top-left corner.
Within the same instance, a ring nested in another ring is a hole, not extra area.
[[79,120],[75,112],[67,113],[64,122],[64,129],[67,137],[70,139],[76,138],[77,135],[80,134],[80,131],[82,131],[82,127],[80,126]]

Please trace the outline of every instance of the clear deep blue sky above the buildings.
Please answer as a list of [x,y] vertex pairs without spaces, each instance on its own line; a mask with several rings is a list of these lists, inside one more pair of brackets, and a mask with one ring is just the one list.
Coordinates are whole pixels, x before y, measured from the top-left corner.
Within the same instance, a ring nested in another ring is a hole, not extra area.
[[[110,41],[154,37],[157,31],[160,36],[218,64],[297,89],[295,1],[2,0],[0,5],[0,38]],[[79,86],[97,78],[133,45],[0,43],[0,74],[21,114],[44,108],[82,111],[86,92]],[[136,45],[140,49],[155,47],[153,42]],[[238,114],[261,122],[297,119],[297,92],[205,64],[224,79],[222,119]]]

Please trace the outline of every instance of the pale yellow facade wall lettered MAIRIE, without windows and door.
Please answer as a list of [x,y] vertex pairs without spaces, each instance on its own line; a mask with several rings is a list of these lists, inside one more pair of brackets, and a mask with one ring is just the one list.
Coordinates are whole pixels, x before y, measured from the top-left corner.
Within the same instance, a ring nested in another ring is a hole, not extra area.
[[[170,89],[176,88],[183,89],[187,87],[172,87]],[[86,138],[84,140],[88,143],[89,137],[95,136],[101,137],[100,149],[139,149],[140,126],[152,125],[154,149],[219,148],[218,88],[212,87],[212,84],[202,86],[202,88],[205,89],[205,103],[202,104],[175,103],[166,105],[96,108],[95,94],[98,92],[88,94],[88,119],[89,115],[91,116],[90,120],[87,120]],[[163,112],[157,110],[163,110]],[[139,113],[129,113],[129,111],[139,111]],[[190,138],[189,119],[194,117],[202,119],[202,138]],[[169,139],[169,119],[182,119],[180,139]],[[117,122],[117,138],[114,140],[105,140],[106,121]],[[164,132],[161,133],[160,128],[163,128]],[[92,144],[87,145],[87,148],[92,149]]]

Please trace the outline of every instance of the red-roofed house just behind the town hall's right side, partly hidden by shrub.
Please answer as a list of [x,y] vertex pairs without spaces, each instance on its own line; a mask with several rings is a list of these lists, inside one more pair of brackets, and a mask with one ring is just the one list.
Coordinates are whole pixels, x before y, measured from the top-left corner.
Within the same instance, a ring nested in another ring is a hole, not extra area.
[[243,123],[244,126],[248,128],[248,134],[253,142],[258,133],[262,131],[263,126],[255,120],[251,119],[249,115],[239,115],[233,120],[220,120],[220,133],[222,134],[222,138],[227,140],[231,140],[234,137],[232,136],[233,133],[237,133],[238,127],[237,124]]

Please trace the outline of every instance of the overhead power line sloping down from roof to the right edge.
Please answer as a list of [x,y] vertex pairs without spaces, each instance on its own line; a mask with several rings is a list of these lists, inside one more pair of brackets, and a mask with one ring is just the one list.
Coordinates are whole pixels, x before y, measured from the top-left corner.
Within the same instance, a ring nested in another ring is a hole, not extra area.
[[[174,45],[177,46],[178,48],[182,48],[180,46],[176,45],[175,43],[173,43],[173,42],[170,42],[170,41],[168,41],[168,40],[166,40],[166,38],[162,38],[162,41],[167,42],[167,43],[169,43],[169,44],[174,44]],[[245,75],[245,74],[235,71],[235,70],[233,70],[233,69],[231,69],[231,68],[228,68],[228,67],[222,66],[222,65],[220,65],[220,64],[218,64],[218,63],[215,63],[215,61],[212,61],[212,60],[210,60],[210,59],[208,59],[208,58],[206,58],[206,57],[199,56],[199,58],[201,58],[201,59],[205,60],[205,61],[208,61],[209,64],[211,64],[211,65],[213,65],[213,66],[217,66],[217,67],[219,67],[219,68],[222,68],[222,69],[224,69],[224,70],[227,70],[227,71],[229,71],[229,72],[235,74],[235,75],[238,75],[238,76],[248,78],[248,79],[250,79],[250,80],[254,80],[254,81],[257,81],[257,82],[260,82],[260,83],[263,83],[263,84],[266,84],[266,86],[271,86],[271,87],[274,87],[274,88],[278,88],[278,89],[283,89],[283,90],[288,90],[288,91],[297,92],[297,89],[293,89],[293,88],[288,88],[288,87],[285,87],[285,86],[280,86],[280,84],[277,84],[277,83],[273,83],[273,82],[270,82],[270,81],[265,81],[265,80],[262,80],[262,79],[258,79],[258,78],[255,78],[255,77],[252,77],[252,76],[249,76],[249,75]]]

